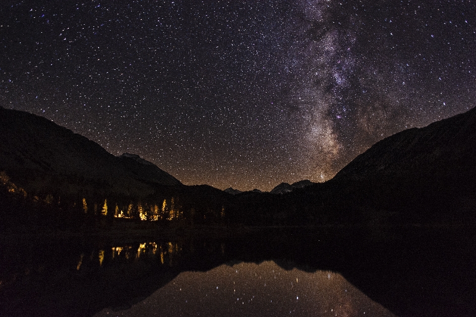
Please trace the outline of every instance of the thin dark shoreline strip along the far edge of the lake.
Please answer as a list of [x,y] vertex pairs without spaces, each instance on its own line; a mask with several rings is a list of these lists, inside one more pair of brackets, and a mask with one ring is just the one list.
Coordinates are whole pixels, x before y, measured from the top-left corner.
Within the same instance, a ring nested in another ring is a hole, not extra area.
[[[336,234],[345,230],[342,234],[361,232],[368,230],[369,233],[396,232],[405,230],[462,230],[476,229],[475,224],[327,224],[307,226],[223,226],[223,225],[200,225],[193,227],[152,227],[152,228],[81,228],[75,230],[60,230],[56,228],[9,228],[0,233],[0,244],[13,241],[48,241],[59,239],[100,239],[100,240],[154,240],[154,239],[239,239],[250,235],[277,233],[293,233],[297,230],[298,235],[313,236],[318,234]],[[339,231],[339,232],[336,232]],[[476,232],[476,231],[475,231]],[[463,233],[463,232],[462,232]]]

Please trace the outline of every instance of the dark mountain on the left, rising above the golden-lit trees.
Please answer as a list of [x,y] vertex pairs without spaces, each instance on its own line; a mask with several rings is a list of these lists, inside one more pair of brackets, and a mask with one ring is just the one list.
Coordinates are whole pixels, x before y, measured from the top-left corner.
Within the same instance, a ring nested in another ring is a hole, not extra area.
[[0,108],[0,171],[28,193],[143,197],[151,184],[181,185],[136,155],[116,157],[99,144],[31,113]]

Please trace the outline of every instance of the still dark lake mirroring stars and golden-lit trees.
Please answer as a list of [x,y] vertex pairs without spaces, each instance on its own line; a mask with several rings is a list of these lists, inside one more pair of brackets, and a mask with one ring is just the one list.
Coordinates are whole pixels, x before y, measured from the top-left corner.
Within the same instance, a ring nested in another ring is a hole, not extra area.
[[0,245],[1,316],[476,316],[473,228]]

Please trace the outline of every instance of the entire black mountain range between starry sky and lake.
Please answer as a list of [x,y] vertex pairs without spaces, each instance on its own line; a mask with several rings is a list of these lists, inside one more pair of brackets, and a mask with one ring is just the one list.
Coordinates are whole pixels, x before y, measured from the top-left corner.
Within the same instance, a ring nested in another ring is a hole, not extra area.
[[[137,155],[116,157],[46,118],[0,108],[0,173],[5,188],[8,177],[28,197],[52,195],[63,211],[107,199],[119,211],[135,206],[132,218],[147,206],[202,223],[476,223],[476,108],[385,138],[325,183],[269,193],[185,186]],[[21,204],[2,197],[10,209]]]

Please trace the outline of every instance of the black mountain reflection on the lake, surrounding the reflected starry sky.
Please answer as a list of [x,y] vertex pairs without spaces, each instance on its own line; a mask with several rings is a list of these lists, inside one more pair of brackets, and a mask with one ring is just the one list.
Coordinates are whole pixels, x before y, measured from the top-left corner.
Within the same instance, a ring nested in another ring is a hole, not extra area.
[[[0,311],[4,316],[94,316],[147,301],[155,292],[164,292],[162,288],[173,287],[182,272],[206,272],[224,264],[228,268],[218,270],[230,272],[230,267],[240,263],[273,261],[284,270],[317,274],[304,274],[301,279],[318,278],[322,271],[338,273],[353,285],[353,291],[357,288],[397,316],[474,316],[476,244],[472,232],[339,227],[317,233],[302,228],[256,230],[233,239],[191,235],[176,241],[4,242],[2,254],[9,256],[0,263]],[[211,285],[213,279],[199,280],[203,290],[217,286]],[[245,280],[240,283],[240,292],[257,292],[251,280],[248,287]],[[138,305],[143,307],[143,303]],[[321,308],[338,304],[329,305]],[[351,305],[350,312],[367,304],[356,305]],[[224,306],[221,312],[227,315],[228,309]],[[297,316],[308,315],[301,311]]]

